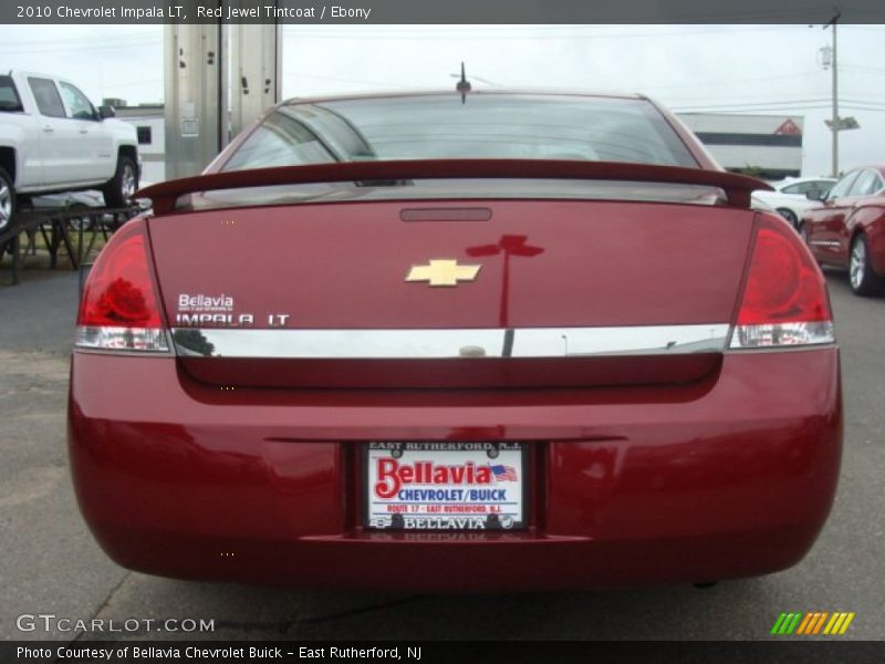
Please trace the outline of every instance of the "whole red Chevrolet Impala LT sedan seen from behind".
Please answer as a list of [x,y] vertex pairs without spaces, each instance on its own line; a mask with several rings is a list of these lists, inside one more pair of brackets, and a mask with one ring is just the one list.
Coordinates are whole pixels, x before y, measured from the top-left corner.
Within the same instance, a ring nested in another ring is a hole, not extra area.
[[424,590],[795,564],[842,444],[821,271],[631,95],[282,103],[84,288],[76,495],[121,564]]

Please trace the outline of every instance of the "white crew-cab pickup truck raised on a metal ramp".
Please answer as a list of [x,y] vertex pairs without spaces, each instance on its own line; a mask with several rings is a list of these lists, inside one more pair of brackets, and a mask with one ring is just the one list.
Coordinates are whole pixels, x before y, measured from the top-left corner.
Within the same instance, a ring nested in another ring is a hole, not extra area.
[[0,75],[0,232],[17,199],[100,189],[105,204],[128,205],[140,163],[135,127],[113,120],[75,85],[29,72]]

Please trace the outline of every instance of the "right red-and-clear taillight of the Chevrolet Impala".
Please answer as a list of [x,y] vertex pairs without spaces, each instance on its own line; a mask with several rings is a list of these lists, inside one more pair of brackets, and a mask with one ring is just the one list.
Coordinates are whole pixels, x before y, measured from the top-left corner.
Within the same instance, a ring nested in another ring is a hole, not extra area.
[[823,274],[799,236],[762,215],[738,310],[732,349],[833,343]]

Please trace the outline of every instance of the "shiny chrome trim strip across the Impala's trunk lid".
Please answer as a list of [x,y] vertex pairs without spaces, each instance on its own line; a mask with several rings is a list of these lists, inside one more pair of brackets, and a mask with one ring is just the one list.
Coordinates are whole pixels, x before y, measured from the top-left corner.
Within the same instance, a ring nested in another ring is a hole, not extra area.
[[726,347],[729,328],[728,323],[513,330],[176,328],[173,330],[173,339],[179,355],[212,357],[312,360],[576,357],[719,353]]

